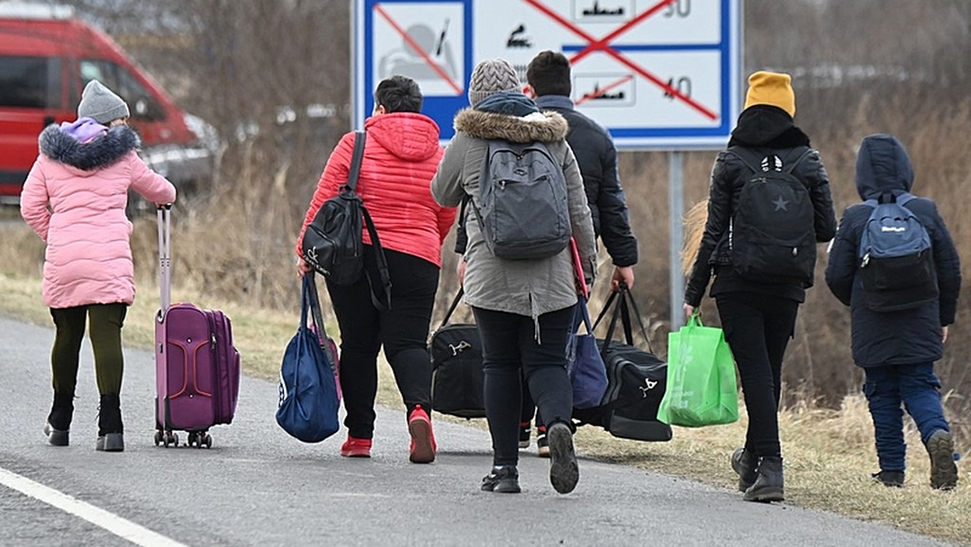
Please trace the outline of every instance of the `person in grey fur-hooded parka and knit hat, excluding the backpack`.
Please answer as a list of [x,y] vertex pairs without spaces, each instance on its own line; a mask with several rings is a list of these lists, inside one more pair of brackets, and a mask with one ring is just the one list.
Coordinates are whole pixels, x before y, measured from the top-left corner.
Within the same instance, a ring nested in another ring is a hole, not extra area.
[[[541,113],[523,95],[519,76],[508,61],[486,59],[472,73],[472,108],[455,116],[455,136],[431,182],[432,195],[444,207],[470,196],[465,222],[468,246],[465,301],[472,306],[483,343],[485,415],[492,435],[493,468],[483,490],[519,492],[520,378],[529,385],[547,426],[550,481],[565,494],[573,491],[579,469],[573,451],[573,392],[566,374],[566,344],[573,330],[577,287],[570,248],[548,258],[505,259],[493,256],[476,218],[481,209],[479,177],[488,140],[542,142],[562,168],[573,237],[586,283],[596,265],[593,222],[584,182],[564,140],[566,120]],[[521,369],[520,369],[521,367]]]

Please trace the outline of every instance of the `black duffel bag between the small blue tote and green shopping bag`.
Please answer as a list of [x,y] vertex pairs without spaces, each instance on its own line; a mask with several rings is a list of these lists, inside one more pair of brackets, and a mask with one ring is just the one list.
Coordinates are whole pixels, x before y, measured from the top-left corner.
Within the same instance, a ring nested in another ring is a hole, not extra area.
[[[630,312],[633,309],[641,333],[650,350],[651,343],[630,291],[623,285],[611,294],[597,317],[599,325],[614,306],[607,337],[598,339],[601,356],[607,366],[607,392],[600,406],[573,409],[578,426],[592,425],[606,429],[615,437],[639,441],[669,441],[671,427],[657,421],[657,407],[667,386],[667,364],[634,346]],[[618,319],[623,326],[626,344],[614,340]]]

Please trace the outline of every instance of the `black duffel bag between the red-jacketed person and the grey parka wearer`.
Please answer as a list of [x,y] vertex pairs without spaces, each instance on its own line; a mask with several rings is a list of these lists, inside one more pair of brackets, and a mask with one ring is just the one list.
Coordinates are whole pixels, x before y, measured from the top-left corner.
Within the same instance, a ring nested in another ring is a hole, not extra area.
[[470,323],[449,325],[462,299],[458,291],[442,325],[428,341],[431,356],[431,407],[459,418],[485,418],[483,400],[483,349],[479,327]]

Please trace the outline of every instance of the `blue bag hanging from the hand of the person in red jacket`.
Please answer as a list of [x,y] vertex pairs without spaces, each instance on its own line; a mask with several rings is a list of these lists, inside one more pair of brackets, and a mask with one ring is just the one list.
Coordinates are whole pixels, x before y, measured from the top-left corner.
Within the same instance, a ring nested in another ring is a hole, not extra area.
[[[315,330],[323,332],[323,325],[318,325],[319,305],[314,275],[304,275],[300,326],[286,346],[280,365],[277,408],[277,424],[304,442],[320,442],[341,427],[333,368],[315,333]],[[307,326],[308,312],[315,326],[313,330]]]

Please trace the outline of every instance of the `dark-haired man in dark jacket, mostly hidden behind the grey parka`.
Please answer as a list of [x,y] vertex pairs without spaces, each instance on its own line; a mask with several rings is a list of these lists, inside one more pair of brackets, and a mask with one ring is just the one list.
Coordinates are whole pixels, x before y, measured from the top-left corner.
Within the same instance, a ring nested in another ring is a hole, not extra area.
[[[526,69],[529,94],[536,106],[544,111],[559,113],[570,124],[566,141],[573,149],[584,177],[586,201],[593,217],[593,230],[603,241],[607,254],[614,261],[612,288],[619,284],[634,285],[634,264],[637,263],[637,238],[630,230],[627,200],[620,188],[617,166],[617,149],[614,140],[603,126],[577,112],[570,99],[570,61],[563,53],[543,51],[533,57]],[[533,415],[533,402],[528,391],[522,394],[522,423],[519,429],[519,446],[529,446],[529,424]],[[539,416],[537,424],[542,424]],[[546,434],[537,426],[536,439],[540,456],[549,455]]]

